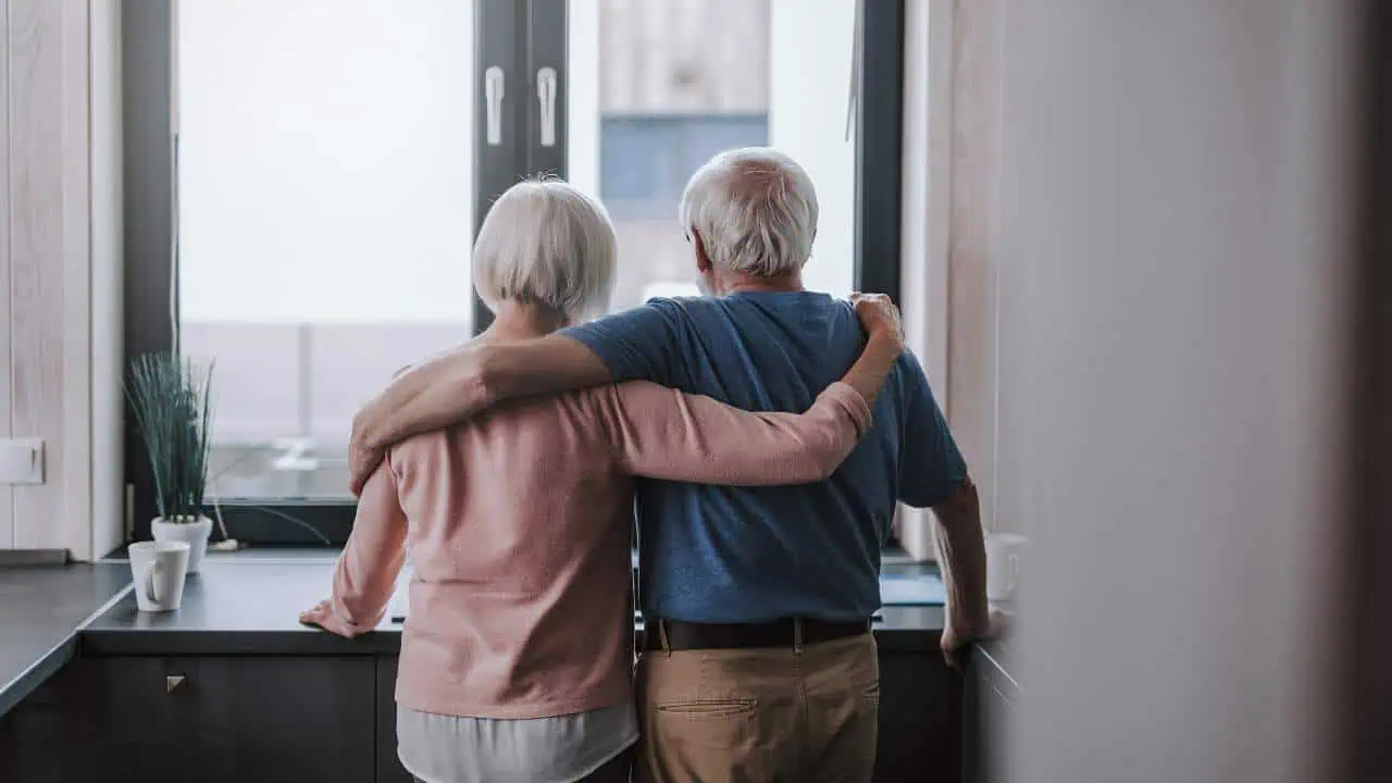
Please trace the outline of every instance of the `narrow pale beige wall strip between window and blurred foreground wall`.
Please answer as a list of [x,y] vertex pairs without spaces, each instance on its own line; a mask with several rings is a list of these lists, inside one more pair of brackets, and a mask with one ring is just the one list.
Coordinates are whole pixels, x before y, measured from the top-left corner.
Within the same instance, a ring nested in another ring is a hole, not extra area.
[[[1022,531],[995,513],[1004,1],[908,6],[902,307],[987,529]],[[901,521],[927,524],[912,511]]]

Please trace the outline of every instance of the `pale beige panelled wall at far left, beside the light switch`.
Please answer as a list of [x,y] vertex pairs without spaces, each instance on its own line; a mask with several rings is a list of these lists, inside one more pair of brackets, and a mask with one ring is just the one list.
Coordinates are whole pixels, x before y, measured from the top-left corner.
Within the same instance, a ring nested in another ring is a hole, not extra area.
[[[0,548],[93,556],[92,259],[110,261],[109,85],[99,103],[104,212],[93,223],[93,18],[114,49],[114,3],[0,0],[0,436],[46,442],[46,482],[0,485]],[[93,238],[93,227],[96,238]],[[103,298],[106,291],[97,291]],[[118,327],[118,322],[106,325]],[[110,361],[110,358],[107,358]],[[110,389],[102,393],[110,411]],[[106,415],[106,414],[103,414]],[[109,424],[109,426],[111,426]],[[110,465],[103,465],[110,471]],[[103,542],[109,535],[102,535]],[[100,555],[100,553],[97,553]]]

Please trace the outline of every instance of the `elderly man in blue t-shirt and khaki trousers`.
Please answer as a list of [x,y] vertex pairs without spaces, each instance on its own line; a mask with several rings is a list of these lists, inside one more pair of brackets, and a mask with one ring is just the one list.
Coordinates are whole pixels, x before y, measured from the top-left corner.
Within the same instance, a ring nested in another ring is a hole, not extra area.
[[[647,379],[745,410],[810,407],[864,336],[849,304],[802,286],[817,230],[806,171],[773,149],[718,155],[688,184],[681,219],[709,295],[437,357],[358,415],[355,481],[390,443],[525,394]],[[870,616],[896,502],[935,511],[951,651],[987,630],[981,527],[912,354],[825,482],[640,483],[640,780],[870,780]]]

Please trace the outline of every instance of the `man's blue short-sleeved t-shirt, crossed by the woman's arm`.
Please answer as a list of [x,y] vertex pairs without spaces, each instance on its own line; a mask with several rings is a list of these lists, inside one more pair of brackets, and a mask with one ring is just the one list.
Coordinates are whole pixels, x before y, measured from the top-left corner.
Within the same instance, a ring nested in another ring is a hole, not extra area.
[[[651,300],[562,334],[594,351],[617,382],[647,379],[749,411],[789,412],[812,407],[866,341],[848,302],[810,291]],[[880,548],[895,500],[933,506],[966,476],[912,354],[899,358],[873,411],[874,426],[820,483],[639,481],[643,614],[695,623],[870,617],[880,607]]]

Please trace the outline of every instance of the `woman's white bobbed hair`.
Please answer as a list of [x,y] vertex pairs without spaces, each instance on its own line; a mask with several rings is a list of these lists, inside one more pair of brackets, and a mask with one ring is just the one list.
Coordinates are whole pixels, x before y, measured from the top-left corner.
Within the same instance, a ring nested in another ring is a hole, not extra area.
[[544,304],[571,320],[608,308],[617,256],[604,206],[561,180],[528,180],[493,202],[473,242],[473,286],[489,309]]

